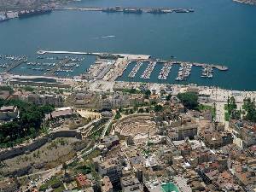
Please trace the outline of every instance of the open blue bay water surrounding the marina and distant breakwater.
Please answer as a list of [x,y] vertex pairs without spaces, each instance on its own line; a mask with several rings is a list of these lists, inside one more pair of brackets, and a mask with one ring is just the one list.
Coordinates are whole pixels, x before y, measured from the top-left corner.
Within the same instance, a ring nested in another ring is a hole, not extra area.
[[[179,61],[223,64],[228,72],[201,79],[193,67],[186,83],[218,85],[236,90],[256,90],[256,6],[230,0],[84,0],[71,6],[127,6],[193,8],[193,14],[124,15],[56,11],[0,24],[0,54],[35,57],[38,49],[133,53]],[[108,38],[107,36],[114,36]],[[84,64],[81,73],[90,62]],[[131,67],[132,68],[132,67]],[[139,74],[132,80],[139,81]],[[175,67],[167,81],[175,82]],[[15,73],[26,73],[22,70]],[[79,73],[79,72],[78,72]],[[127,77],[129,70],[120,80]]]

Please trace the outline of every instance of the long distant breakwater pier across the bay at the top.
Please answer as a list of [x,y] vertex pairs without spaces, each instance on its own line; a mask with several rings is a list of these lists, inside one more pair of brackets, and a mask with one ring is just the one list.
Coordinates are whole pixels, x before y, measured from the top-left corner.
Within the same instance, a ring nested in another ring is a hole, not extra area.
[[55,10],[78,10],[78,11],[98,11],[105,13],[124,13],[124,14],[170,14],[170,13],[193,13],[194,9],[181,8],[122,8],[122,7],[74,7],[74,8],[56,8]]

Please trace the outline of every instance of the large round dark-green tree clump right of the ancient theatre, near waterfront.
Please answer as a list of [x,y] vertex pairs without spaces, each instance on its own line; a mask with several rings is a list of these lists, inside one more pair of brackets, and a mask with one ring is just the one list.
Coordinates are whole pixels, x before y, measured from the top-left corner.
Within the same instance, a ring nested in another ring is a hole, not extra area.
[[183,106],[188,109],[198,108],[198,95],[195,92],[178,93],[177,98],[183,103]]

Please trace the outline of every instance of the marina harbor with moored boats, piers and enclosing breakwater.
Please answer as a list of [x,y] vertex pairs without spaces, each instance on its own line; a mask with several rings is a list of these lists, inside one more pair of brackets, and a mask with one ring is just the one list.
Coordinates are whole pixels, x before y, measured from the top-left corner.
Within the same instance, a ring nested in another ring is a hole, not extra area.
[[[148,82],[156,77],[160,82],[186,82],[192,71],[195,73],[199,70],[198,77],[201,79],[213,79],[214,71],[218,75],[218,71],[229,69],[224,65],[176,61],[173,57],[171,60],[161,60],[150,55],[54,50],[38,50],[37,54],[34,59],[26,55],[0,55],[0,70],[2,73],[15,73],[22,69],[28,74],[75,77],[86,81],[117,81],[126,75],[128,79],[133,79],[131,81]],[[87,67],[84,61],[87,61]],[[196,70],[192,70],[194,67]]]

